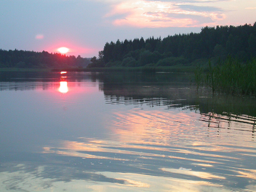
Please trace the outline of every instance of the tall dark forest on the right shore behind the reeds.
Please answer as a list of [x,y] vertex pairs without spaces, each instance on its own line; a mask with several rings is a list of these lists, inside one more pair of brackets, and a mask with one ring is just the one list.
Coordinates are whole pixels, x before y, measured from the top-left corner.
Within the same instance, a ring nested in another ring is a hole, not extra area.
[[240,26],[204,27],[200,33],[154,36],[106,43],[88,67],[197,66],[256,56],[256,22]]

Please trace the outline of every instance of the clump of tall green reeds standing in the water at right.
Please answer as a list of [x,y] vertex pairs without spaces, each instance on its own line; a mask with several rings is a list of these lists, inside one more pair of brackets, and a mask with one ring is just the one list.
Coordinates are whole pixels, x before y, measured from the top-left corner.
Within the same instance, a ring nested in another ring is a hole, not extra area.
[[204,84],[212,92],[256,95],[256,58],[242,62],[228,57],[215,67],[209,61],[209,70],[204,78],[198,76],[202,76],[202,69],[195,73],[197,89],[200,84]]

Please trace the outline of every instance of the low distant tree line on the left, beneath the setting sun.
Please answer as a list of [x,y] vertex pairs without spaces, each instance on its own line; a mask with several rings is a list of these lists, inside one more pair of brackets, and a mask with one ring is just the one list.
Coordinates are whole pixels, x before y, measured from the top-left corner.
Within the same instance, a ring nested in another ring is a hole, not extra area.
[[80,55],[0,49],[0,68],[84,68],[90,60]]

